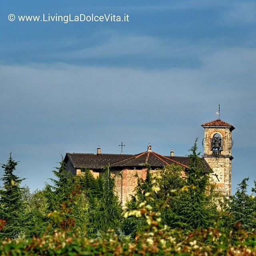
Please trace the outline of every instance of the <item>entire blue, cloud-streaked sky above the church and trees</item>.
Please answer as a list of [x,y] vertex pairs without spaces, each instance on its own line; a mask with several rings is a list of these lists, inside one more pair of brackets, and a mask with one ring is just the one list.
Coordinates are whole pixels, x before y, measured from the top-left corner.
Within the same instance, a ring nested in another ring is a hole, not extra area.
[[[129,22],[18,15],[128,14]],[[15,14],[16,20],[8,21]],[[43,188],[66,152],[188,154],[204,122],[231,123],[232,192],[256,180],[253,1],[2,1],[0,163]]]

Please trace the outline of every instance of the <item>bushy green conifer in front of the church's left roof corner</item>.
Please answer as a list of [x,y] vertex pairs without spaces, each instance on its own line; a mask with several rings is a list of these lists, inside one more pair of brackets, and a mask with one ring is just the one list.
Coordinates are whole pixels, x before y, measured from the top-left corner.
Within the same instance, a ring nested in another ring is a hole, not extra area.
[[45,195],[48,203],[50,225],[47,232],[56,229],[73,230],[78,234],[86,234],[87,220],[84,218],[88,212],[88,200],[82,194],[80,177],[73,176],[66,171],[64,160],[60,167],[53,171],[57,179],[51,179],[54,186],[46,185]]

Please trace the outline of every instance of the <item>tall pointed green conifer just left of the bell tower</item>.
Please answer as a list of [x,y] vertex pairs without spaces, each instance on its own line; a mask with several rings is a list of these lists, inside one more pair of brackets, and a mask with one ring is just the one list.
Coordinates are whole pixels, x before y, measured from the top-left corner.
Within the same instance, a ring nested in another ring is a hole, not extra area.
[[[197,142],[197,139],[196,139]],[[186,170],[186,185],[180,190],[176,200],[175,216],[178,217],[174,226],[187,229],[207,228],[214,223],[216,218],[216,205],[207,195],[209,173],[207,173],[197,153],[196,142],[190,149],[190,164]]]

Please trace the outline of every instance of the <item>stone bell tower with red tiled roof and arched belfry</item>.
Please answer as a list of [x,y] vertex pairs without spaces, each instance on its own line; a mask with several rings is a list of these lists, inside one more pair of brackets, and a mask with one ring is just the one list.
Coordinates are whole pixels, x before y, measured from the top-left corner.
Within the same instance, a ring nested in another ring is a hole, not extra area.
[[203,158],[213,170],[211,179],[216,183],[218,191],[228,197],[231,194],[232,130],[235,128],[220,118],[202,124],[202,127],[204,128]]

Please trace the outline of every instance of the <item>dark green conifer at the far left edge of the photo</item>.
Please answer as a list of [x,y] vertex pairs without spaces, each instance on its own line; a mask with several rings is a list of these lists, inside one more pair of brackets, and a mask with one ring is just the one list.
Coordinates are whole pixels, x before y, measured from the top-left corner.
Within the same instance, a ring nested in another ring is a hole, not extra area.
[[26,224],[24,215],[24,202],[20,179],[14,174],[18,162],[12,159],[12,154],[7,164],[2,164],[4,174],[1,180],[4,188],[0,190],[0,219],[6,222],[4,229],[0,230],[0,237],[15,238],[22,235]]

